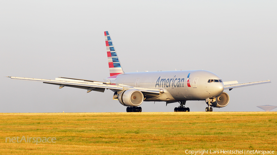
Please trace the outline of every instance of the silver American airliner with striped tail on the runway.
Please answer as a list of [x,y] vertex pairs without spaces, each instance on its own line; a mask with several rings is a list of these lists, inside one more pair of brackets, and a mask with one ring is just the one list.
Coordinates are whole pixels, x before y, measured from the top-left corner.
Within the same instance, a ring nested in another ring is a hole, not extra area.
[[122,70],[118,55],[108,31],[104,32],[110,77],[104,81],[59,77],[55,80],[10,77],[16,80],[38,81],[63,87],[74,87],[91,91],[104,92],[110,89],[114,92],[113,99],[126,106],[127,112],[142,112],[138,107],[143,101],[163,101],[167,104],[179,102],[180,106],[174,112],[189,112],[185,108],[187,100],[204,100],[208,107],[206,112],[212,112],[212,107],[222,108],[229,104],[230,98],[224,89],[271,83],[270,80],[238,83],[238,81],[223,82],[221,78],[206,70],[178,70],[155,72],[130,72]]

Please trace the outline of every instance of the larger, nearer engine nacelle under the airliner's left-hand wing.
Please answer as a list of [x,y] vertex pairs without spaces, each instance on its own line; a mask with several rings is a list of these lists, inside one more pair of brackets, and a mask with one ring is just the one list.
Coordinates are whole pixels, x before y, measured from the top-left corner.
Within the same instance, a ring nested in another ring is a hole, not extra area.
[[143,103],[143,93],[137,89],[129,89],[118,96],[120,104],[128,107],[136,107]]

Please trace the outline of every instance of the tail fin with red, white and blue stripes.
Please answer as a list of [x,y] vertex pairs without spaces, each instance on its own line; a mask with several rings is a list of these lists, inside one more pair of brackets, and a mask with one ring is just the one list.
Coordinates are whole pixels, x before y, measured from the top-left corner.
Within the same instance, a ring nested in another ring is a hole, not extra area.
[[110,76],[124,73],[122,70],[122,67],[120,65],[120,62],[118,60],[116,51],[114,49],[114,44],[113,44],[112,40],[110,39],[109,32],[105,31],[104,34],[105,34]]

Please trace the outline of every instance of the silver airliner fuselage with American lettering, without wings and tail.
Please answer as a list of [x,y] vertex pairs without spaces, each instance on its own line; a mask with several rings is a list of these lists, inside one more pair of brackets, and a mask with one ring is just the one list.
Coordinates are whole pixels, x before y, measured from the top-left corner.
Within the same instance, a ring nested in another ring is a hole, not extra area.
[[219,96],[224,89],[223,82],[208,83],[208,80],[220,80],[220,77],[206,70],[131,72],[106,78],[105,81],[108,79],[115,85],[164,90],[164,94],[145,101],[206,100]]

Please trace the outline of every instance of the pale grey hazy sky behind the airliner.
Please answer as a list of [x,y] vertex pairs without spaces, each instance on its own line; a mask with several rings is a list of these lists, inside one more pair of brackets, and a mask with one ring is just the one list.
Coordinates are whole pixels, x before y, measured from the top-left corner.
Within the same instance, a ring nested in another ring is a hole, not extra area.
[[[276,1],[0,1],[0,112],[125,112],[113,92],[5,76],[103,80],[109,76],[104,31],[125,72],[208,70],[223,81],[272,83],[226,90],[214,111],[263,111],[277,105]],[[143,102],[143,112],[178,103]],[[204,101],[187,101],[204,111]],[[276,109],[272,110],[276,111]]]

